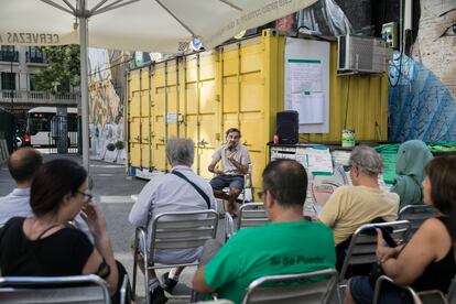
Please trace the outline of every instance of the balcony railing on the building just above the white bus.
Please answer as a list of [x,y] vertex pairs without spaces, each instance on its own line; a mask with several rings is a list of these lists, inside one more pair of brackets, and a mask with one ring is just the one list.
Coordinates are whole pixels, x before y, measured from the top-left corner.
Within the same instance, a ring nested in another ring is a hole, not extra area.
[[52,95],[47,91],[39,90],[0,90],[0,105],[1,104],[28,104],[28,105],[42,105],[51,106],[57,105],[76,105],[78,94],[76,93],[57,93]]

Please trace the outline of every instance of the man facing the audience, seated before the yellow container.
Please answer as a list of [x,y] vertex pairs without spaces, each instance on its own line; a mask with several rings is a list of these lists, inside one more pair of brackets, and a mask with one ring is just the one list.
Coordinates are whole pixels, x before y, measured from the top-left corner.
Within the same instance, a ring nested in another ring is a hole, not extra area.
[[[235,215],[236,198],[243,189],[243,175],[249,172],[251,161],[247,148],[239,143],[241,138],[239,129],[230,128],[225,135],[227,142],[214,152],[208,170],[217,175],[210,181],[214,195],[227,200],[227,211]],[[220,160],[221,169],[217,166]],[[229,187],[228,194],[224,193],[225,187]]]

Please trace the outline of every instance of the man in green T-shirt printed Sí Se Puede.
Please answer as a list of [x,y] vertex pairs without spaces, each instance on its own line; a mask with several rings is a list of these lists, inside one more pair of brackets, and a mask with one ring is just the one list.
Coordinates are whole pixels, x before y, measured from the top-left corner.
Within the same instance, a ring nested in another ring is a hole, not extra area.
[[[193,279],[197,292],[217,292],[241,303],[248,285],[264,275],[306,273],[334,268],[333,234],[322,222],[304,221],[305,169],[293,160],[273,161],[263,171],[260,193],[271,224],[240,229],[202,265]],[[207,242],[204,252],[214,252]]]

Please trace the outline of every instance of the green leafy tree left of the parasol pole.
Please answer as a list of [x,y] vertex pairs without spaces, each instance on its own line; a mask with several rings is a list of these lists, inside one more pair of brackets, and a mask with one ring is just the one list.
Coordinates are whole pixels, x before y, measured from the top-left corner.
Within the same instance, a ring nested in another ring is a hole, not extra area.
[[79,86],[79,45],[42,46],[40,51],[45,54],[48,65],[33,75],[37,90],[55,94],[68,91],[68,85]]

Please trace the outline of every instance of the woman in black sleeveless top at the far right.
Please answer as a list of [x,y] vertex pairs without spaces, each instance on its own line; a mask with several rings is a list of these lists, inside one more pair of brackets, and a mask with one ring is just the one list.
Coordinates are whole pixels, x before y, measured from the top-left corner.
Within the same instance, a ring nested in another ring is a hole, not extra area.
[[[456,275],[456,156],[441,156],[426,165],[423,196],[438,215],[427,219],[405,246],[390,248],[378,234],[377,261],[384,273],[399,285],[415,291],[439,290],[447,293]],[[371,303],[372,285],[368,276],[348,282],[344,303]],[[380,295],[380,303],[412,303],[403,290],[391,286]]]

